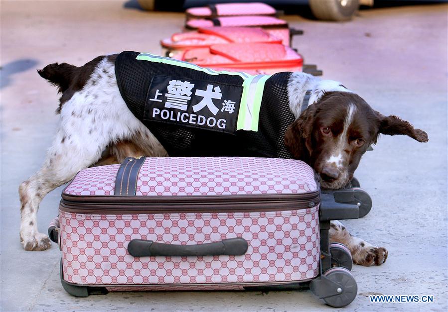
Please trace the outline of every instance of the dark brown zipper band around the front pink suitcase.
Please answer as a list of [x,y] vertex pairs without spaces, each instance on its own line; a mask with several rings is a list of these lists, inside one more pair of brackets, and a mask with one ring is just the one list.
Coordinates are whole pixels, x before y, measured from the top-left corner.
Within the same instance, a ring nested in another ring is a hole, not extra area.
[[76,213],[255,212],[315,207],[319,192],[288,195],[136,197],[62,195],[60,210]]

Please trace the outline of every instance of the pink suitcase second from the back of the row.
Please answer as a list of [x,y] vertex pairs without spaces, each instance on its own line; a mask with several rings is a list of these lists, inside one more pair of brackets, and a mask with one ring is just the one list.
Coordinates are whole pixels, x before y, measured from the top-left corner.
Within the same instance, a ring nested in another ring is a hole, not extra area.
[[185,23],[186,29],[199,29],[212,26],[223,27],[262,27],[270,34],[282,40],[284,45],[291,45],[291,36],[302,34],[301,30],[290,29],[288,22],[274,16],[226,16],[214,19],[190,19]]

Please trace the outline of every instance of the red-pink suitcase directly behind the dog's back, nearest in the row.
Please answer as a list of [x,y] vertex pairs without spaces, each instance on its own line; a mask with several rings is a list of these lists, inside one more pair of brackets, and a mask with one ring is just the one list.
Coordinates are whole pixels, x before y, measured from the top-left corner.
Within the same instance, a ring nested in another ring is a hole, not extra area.
[[290,47],[274,43],[217,44],[186,50],[182,61],[215,70],[271,75],[302,71],[303,59]]

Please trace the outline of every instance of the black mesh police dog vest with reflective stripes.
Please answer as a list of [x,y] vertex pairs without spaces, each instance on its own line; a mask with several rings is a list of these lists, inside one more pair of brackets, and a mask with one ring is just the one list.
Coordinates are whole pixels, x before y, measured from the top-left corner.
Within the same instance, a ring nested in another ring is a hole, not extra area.
[[169,156],[292,158],[284,143],[295,120],[287,93],[290,72],[216,72],[125,51],[115,74],[129,109]]

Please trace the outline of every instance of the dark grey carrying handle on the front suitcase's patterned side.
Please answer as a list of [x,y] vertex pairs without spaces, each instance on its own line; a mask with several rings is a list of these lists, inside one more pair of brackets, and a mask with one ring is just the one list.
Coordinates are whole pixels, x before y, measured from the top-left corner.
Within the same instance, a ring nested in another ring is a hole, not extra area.
[[247,241],[241,237],[199,245],[173,245],[157,243],[152,240],[133,239],[128,244],[128,251],[134,257],[240,256],[246,253],[248,247]]

